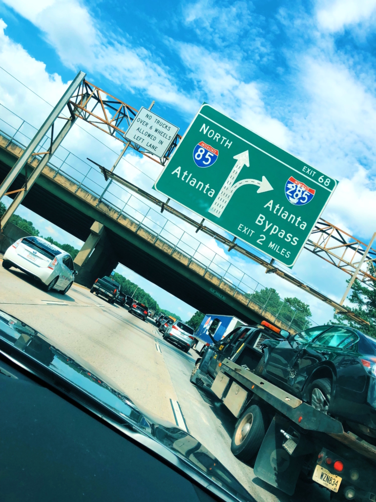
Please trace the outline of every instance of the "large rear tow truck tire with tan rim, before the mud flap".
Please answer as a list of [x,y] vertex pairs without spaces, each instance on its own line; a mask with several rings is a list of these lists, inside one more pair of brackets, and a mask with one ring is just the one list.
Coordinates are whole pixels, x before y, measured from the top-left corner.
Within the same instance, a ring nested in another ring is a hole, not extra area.
[[259,406],[252,405],[242,413],[235,425],[231,451],[239,460],[247,461],[259,451],[267,424]]

